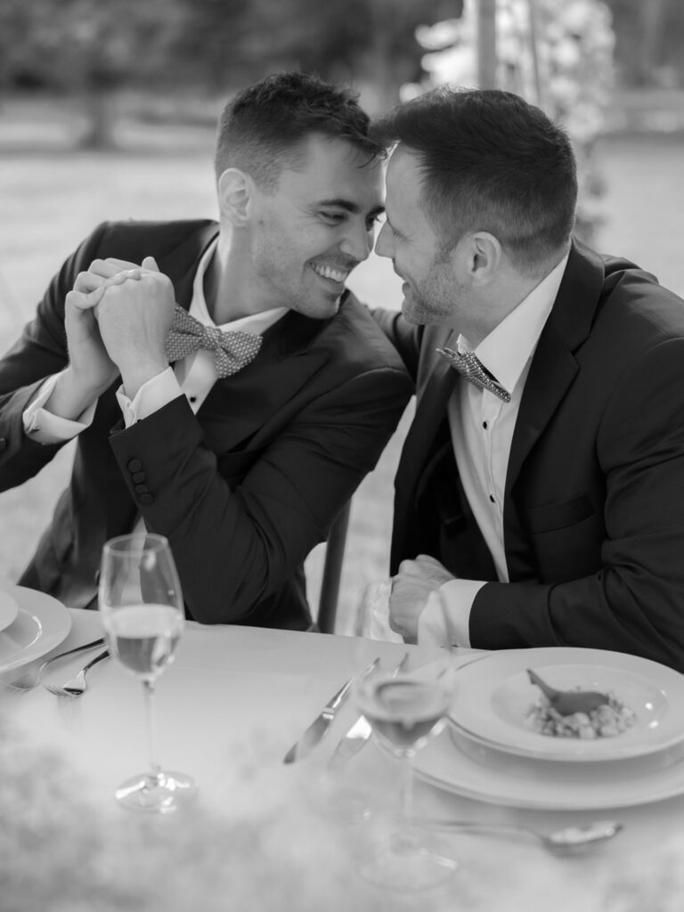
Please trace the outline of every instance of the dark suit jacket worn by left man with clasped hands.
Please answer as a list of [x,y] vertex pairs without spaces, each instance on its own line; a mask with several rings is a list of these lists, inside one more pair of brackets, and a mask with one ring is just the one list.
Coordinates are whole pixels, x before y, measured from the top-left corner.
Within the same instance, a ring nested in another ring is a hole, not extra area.
[[[67,365],[64,299],[78,272],[98,257],[140,263],[150,254],[188,307],[217,231],[209,221],[106,223],[68,258],[0,361],[0,490],[57,451],[27,439],[22,413]],[[306,628],[302,563],[374,468],[411,393],[366,309],[346,294],[328,320],[290,312],[247,368],[217,381],[197,416],[181,396],[123,430],[119,382],[78,437],[71,482],[20,582],[93,605],[102,544],[140,512],[171,542],[190,617]]]

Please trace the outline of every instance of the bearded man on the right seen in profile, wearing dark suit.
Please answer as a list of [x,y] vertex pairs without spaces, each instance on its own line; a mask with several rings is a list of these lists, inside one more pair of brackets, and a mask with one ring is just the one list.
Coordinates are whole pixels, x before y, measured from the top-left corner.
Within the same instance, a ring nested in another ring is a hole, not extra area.
[[522,98],[442,88],[375,135],[418,396],[392,626],[684,670],[684,302],[571,237],[573,150]]

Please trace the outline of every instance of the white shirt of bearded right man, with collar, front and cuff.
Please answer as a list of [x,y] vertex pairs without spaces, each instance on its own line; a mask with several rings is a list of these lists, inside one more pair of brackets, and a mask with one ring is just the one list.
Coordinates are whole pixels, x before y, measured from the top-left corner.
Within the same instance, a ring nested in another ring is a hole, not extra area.
[[[508,582],[503,490],[513,430],[534,349],[554,306],[566,264],[567,254],[474,349],[482,365],[511,394],[511,401],[503,402],[461,377],[447,407],[463,489],[501,583]],[[457,347],[461,353],[472,350],[463,336]],[[419,643],[469,647],[472,602],[484,585],[482,580],[453,579],[431,593],[419,618]]]

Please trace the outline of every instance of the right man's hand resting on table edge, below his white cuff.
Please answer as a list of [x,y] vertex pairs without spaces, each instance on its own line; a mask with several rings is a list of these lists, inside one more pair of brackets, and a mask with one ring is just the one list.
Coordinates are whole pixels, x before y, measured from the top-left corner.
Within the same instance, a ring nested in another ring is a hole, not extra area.
[[392,577],[389,627],[401,634],[407,643],[418,642],[418,622],[430,593],[454,578],[429,554],[419,554],[414,561],[402,561],[399,573]]

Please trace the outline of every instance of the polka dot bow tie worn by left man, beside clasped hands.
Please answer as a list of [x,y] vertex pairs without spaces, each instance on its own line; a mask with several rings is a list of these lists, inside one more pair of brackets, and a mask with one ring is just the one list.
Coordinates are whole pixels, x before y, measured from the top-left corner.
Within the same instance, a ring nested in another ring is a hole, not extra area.
[[171,362],[180,361],[199,348],[208,348],[214,353],[216,373],[225,378],[253,361],[261,343],[261,336],[252,333],[223,332],[216,326],[204,326],[187,310],[176,305],[173,324],[166,337],[166,357]]

